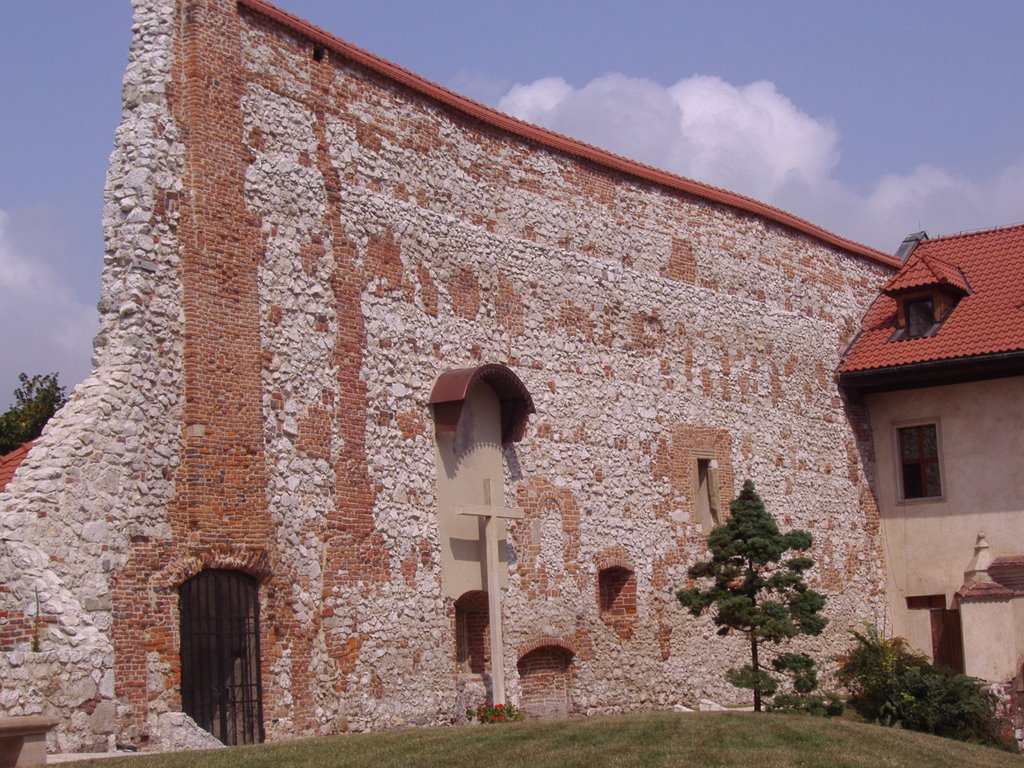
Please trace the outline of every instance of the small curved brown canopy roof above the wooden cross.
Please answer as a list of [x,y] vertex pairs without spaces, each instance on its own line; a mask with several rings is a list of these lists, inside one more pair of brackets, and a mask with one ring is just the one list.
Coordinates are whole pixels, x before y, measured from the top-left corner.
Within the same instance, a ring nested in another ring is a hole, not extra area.
[[462,415],[462,406],[473,385],[479,381],[498,395],[502,409],[502,444],[519,442],[526,431],[529,415],[537,413],[534,398],[526,385],[507,366],[489,364],[476,368],[459,368],[445,371],[437,377],[430,391],[430,404],[434,410],[434,431],[440,437],[455,434]]

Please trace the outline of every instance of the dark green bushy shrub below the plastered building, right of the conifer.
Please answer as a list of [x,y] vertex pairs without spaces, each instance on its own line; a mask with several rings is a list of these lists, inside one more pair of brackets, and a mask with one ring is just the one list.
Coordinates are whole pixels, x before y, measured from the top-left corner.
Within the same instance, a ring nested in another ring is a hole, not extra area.
[[865,720],[937,736],[1008,748],[995,700],[981,681],[929,664],[900,637],[851,632],[856,645],[837,677]]

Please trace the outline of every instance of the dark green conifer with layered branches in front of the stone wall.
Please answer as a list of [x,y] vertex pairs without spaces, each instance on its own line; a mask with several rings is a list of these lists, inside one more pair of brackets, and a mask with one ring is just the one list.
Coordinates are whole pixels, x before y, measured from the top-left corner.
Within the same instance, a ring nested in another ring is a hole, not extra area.
[[[693,615],[710,610],[719,635],[739,632],[748,637],[751,664],[729,670],[726,679],[752,688],[754,709],[761,712],[762,696],[778,689],[778,679],[761,659],[761,646],[798,635],[820,635],[827,624],[820,614],[825,598],[804,582],[804,573],[814,565],[811,558],[783,559],[790,550],[810,549],[811,535],[781,532],[753,482],[743,483],[729,504],[729,513],[728,520],[708,537],[712,559],[687,570],[691,580],[711,580],[710,586],[681,589],[676,597]],[[804,653],[782,654],[771,667],[788,675],[798,693],[809,693],[817,685],[814,662]]]

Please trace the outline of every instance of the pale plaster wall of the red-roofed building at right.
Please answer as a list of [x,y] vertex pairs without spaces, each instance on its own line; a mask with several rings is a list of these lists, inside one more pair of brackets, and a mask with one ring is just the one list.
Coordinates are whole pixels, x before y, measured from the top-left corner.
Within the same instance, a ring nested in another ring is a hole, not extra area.
[[[1024,378],[878,393],[866,402],[892,628],[930,653],[927,611],[908,611],[905,598],[943,594],[951,606],[979,531],[992,557],[1024,552],[1024,463],[1018,460],[1024,456]],[[942,497],[900,501],[896,429],[922,422],[939,425]],[[1018,646],[1021,638],[1017,633]]]

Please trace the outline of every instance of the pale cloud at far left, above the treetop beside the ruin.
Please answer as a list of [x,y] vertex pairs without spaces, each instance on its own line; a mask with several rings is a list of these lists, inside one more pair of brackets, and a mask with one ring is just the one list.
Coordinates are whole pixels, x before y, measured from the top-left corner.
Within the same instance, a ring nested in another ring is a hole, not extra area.
[[[60,273],[25,252],[33,232],[12,236],[13,220],[0,210],[0,411],[17,375],[57,371],[71,390],[89,372],[96,310],[77,299]],[[38,226],[38,224],[33,224]],[[36,233],[41,241],[48,232]]]

